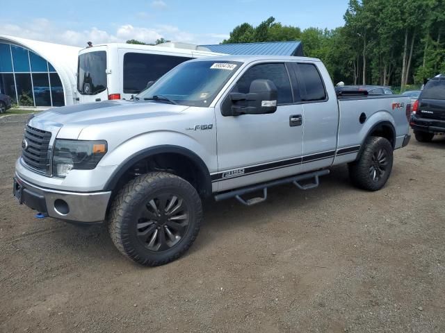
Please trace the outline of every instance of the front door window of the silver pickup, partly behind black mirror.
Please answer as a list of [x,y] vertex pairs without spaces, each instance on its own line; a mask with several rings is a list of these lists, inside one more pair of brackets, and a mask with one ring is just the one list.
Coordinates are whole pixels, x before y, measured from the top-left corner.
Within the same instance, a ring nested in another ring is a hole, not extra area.
[[232,92],[248,94],[253,80],[266,79],[275,83],[278,90],[278,104],[292,103],[291,83],[284,64],[260,64],[250,67],[238,80]]

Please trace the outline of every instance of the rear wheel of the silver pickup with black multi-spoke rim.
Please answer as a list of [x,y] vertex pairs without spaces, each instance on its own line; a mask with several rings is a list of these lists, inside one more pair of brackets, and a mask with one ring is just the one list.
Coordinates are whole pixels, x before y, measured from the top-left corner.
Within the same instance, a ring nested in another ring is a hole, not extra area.
[[359,160],[348,166],[350,180],[360,189],[381,189],[391,174],[393,158],[393,148],[388,139],[370,137]]

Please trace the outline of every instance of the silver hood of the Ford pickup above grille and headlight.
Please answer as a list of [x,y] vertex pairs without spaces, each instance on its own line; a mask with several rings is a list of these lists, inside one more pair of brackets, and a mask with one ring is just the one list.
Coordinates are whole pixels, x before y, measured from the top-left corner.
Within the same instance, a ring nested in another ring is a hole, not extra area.
[[124,123],[154,117],[168,117],[189,108],[159,102],[102,101],[52,108],[29,121],[35,128],[60,128],[59,135],[76,139],[88,126],[104,123]]

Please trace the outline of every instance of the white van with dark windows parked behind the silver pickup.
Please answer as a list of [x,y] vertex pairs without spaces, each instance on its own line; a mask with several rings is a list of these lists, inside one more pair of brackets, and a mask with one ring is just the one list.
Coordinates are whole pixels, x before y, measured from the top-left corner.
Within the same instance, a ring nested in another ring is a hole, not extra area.
[[110,43],[88,47],[79,51],[78,101],[131,99],[147,83],[156,81],[181,62],[215,55],[220,53],[184,43],[161,46]]

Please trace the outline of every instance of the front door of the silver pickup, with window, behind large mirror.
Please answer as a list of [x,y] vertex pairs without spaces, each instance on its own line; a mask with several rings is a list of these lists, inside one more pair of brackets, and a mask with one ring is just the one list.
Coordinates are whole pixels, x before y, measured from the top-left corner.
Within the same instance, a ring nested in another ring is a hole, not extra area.
[[272,114],[224,117],[216,105],[218,191],[243,187],[299,173],[302,156],[302,105],[294,104],[289,71],[283,62],[257,63],[244,70],[229,92],[247,94],[253,80],[268,79],[278,90]]

